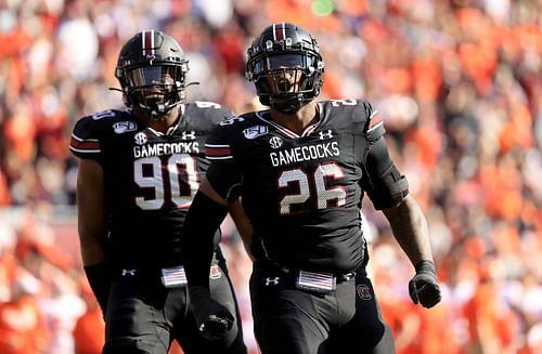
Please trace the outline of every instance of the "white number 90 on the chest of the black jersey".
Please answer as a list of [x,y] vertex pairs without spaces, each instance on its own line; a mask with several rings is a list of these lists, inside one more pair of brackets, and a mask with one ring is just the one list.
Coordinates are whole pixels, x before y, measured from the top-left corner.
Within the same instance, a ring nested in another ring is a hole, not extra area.
[[[152,170],[152,175],[143,171]],[[184,171],[182,171],[183,169]],[[168,173],[169,183],[164,178]],[[188,188],[181,188],[181,172],[186,176]],[[199,186],[195,157],[189,154],[176,154],[168,158],[167,168],[157,156],[145,157],[134,161],[133,178],[138,186],[154,189],[153,198],[136,197],[136,204],[143,210],[158,210],[166,202],[166,188],[170,189],[171,202],[178,208],[188,208]]]

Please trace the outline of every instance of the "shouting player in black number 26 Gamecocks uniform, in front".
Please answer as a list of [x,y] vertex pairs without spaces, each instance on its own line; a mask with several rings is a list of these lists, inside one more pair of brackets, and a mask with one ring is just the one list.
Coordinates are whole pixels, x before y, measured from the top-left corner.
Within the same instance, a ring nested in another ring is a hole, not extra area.
[[261,352],[393,353],[365,272],[362,197],[383,211],[414,266],[412,300],[433,307],[441,293],[428,226],[371,103],[314,100],[323,71],[317,40],[294,24],[267,27],[248,49],[246,77],[269,109],[222,121],[207,140],[212,162],[182,239],[189,292],[207,299],[197,318],[225,313],[207,270],[214,230],[241,198],[254,228],[250,298]]

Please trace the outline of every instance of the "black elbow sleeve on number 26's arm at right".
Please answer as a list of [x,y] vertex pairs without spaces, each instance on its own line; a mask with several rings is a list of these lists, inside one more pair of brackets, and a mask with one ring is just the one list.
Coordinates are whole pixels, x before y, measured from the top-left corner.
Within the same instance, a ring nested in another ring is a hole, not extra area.
[[409,183],[391,160],[384,137],[369,146],[365,159],[363,189],[366,191],[375,209],[390,208],[409,194]]

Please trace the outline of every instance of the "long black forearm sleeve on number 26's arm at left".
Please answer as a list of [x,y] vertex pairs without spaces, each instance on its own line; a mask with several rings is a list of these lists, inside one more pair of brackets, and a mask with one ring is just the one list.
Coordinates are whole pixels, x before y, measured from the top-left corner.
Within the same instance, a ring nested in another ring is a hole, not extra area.
[[184,221],[181,253],[189,286],[209,288],[209,266],[214,236],[228,213],[202,192],[197,192]]

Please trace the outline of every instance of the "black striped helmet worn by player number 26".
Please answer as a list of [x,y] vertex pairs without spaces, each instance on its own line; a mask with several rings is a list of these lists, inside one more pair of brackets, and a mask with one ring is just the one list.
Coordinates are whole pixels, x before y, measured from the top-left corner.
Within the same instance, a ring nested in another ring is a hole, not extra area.
[[320,94],[324,61],[317,40],[288,23],[273,24],[247,51],[245,76],[261,104],[295,113]]

